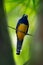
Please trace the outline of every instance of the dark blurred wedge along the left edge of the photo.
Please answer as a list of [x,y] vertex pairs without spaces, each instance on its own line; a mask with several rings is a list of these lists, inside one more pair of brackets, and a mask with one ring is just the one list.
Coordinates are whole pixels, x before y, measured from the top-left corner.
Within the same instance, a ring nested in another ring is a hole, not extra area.
[[0,0],[0,65],[14,65],[3,0]]

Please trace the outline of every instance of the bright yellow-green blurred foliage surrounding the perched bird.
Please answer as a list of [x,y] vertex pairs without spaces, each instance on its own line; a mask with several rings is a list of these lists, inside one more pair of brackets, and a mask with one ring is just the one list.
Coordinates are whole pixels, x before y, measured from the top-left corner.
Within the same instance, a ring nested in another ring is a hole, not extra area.
[[[23,14],[28,15],[28,21],[30,24],[30,28],[28,30],[28,33],[34,34],[35,28],[36,28],[36,12],[38,9],[39,0],[4,0],[4,9],[6,10],[6,17],[8,20],[8,25],[12,27],[16,27],[16,24],[18,22],[18,19]],[[20,56],[16,55],[16,37],[15,37],[15,31],[9,29],[9,34],[12,40],[12,48],[13,48],[13,55],[14,59],[17,65],[23,65],[26,61],[30,59],[30,51],[29,51],[29,45],[32,42],[32,37],[25,36],[22,52]]]

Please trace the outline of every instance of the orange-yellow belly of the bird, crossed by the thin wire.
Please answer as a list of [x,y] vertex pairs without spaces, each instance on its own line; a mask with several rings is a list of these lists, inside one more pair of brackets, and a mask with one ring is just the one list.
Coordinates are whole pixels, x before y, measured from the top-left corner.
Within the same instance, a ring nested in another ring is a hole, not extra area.
[[[20,30],[20,31],[26,33],[26,31],[27,31],[27,25],[20,24],[17,30]],[[25,33],[22,33],[20,31],[17,31],[17,36],[18,36],[19,40],[22,40],[24,38],[24,36],[25,36]]]

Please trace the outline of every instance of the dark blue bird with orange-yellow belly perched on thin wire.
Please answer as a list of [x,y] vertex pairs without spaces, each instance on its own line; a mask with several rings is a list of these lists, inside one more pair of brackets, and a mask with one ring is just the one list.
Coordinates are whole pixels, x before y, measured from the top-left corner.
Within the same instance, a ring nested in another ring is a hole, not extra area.
[[25,35],[28,32],[29,22],[28,22],[28,15],[24,14],[19,20],[16,25],[16,35],[17,35],[17,48],[16,54],[20,55],[23,40]]

